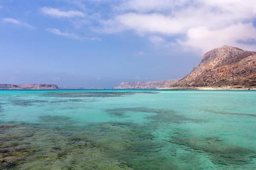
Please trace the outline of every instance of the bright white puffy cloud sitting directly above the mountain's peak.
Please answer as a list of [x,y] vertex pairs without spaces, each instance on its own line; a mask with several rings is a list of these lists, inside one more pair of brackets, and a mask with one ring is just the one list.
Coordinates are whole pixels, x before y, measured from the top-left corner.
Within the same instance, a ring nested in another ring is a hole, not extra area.
[[192,47],[199,53],[226,44],[250,51],[256,50],[255,45],[239,43],[251,39],[256,40],[256,29],[252,23],[238,23],[215,31],[209,30],[207,27],[191,28],[187,31],[186,37],[186,40],[179,41],[179,43],[183,46]]

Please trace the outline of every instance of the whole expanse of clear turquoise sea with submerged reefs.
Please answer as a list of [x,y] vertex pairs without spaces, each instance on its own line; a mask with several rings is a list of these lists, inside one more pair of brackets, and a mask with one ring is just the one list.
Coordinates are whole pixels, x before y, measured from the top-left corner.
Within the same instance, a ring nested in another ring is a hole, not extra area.
[[1,90],[2,169],[253,170],[256,91]]

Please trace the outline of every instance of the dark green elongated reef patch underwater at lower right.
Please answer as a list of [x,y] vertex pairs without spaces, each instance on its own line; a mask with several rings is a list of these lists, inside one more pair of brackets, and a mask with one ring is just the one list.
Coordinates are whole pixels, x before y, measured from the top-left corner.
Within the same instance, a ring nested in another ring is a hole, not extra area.
[[198,153],[205,153],[216,165],[244,165],[249,164],[256,151],[248,150],[234,144],[222,142],[218,137],[198,139],[183,136],[172,136],[171,143],[183,145]]

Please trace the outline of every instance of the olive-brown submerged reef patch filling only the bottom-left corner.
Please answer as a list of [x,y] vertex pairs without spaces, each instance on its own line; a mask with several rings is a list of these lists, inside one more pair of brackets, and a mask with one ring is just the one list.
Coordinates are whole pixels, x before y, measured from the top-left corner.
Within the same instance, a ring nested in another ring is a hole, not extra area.
[[[49,120],[48,117],[43,119]],[[66,129],[65,125],[56,130],[22,123],[1,124],[0,131],[0,170],[39,170],[46,166],[64,170],[131,170],[125,164],[120,168],[116,159],[105,155],[104,147],[87,140],[99,137],[95,131],[76,126]]]

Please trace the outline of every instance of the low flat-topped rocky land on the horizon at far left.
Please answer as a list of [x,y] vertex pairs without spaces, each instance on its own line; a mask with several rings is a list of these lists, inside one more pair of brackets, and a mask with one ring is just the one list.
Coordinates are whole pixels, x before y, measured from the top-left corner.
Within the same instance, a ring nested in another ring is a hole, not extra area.
[[27,84],[27,85],[0,84],[0,89],[58,89],[58,85],[51,85],[51,84]]

